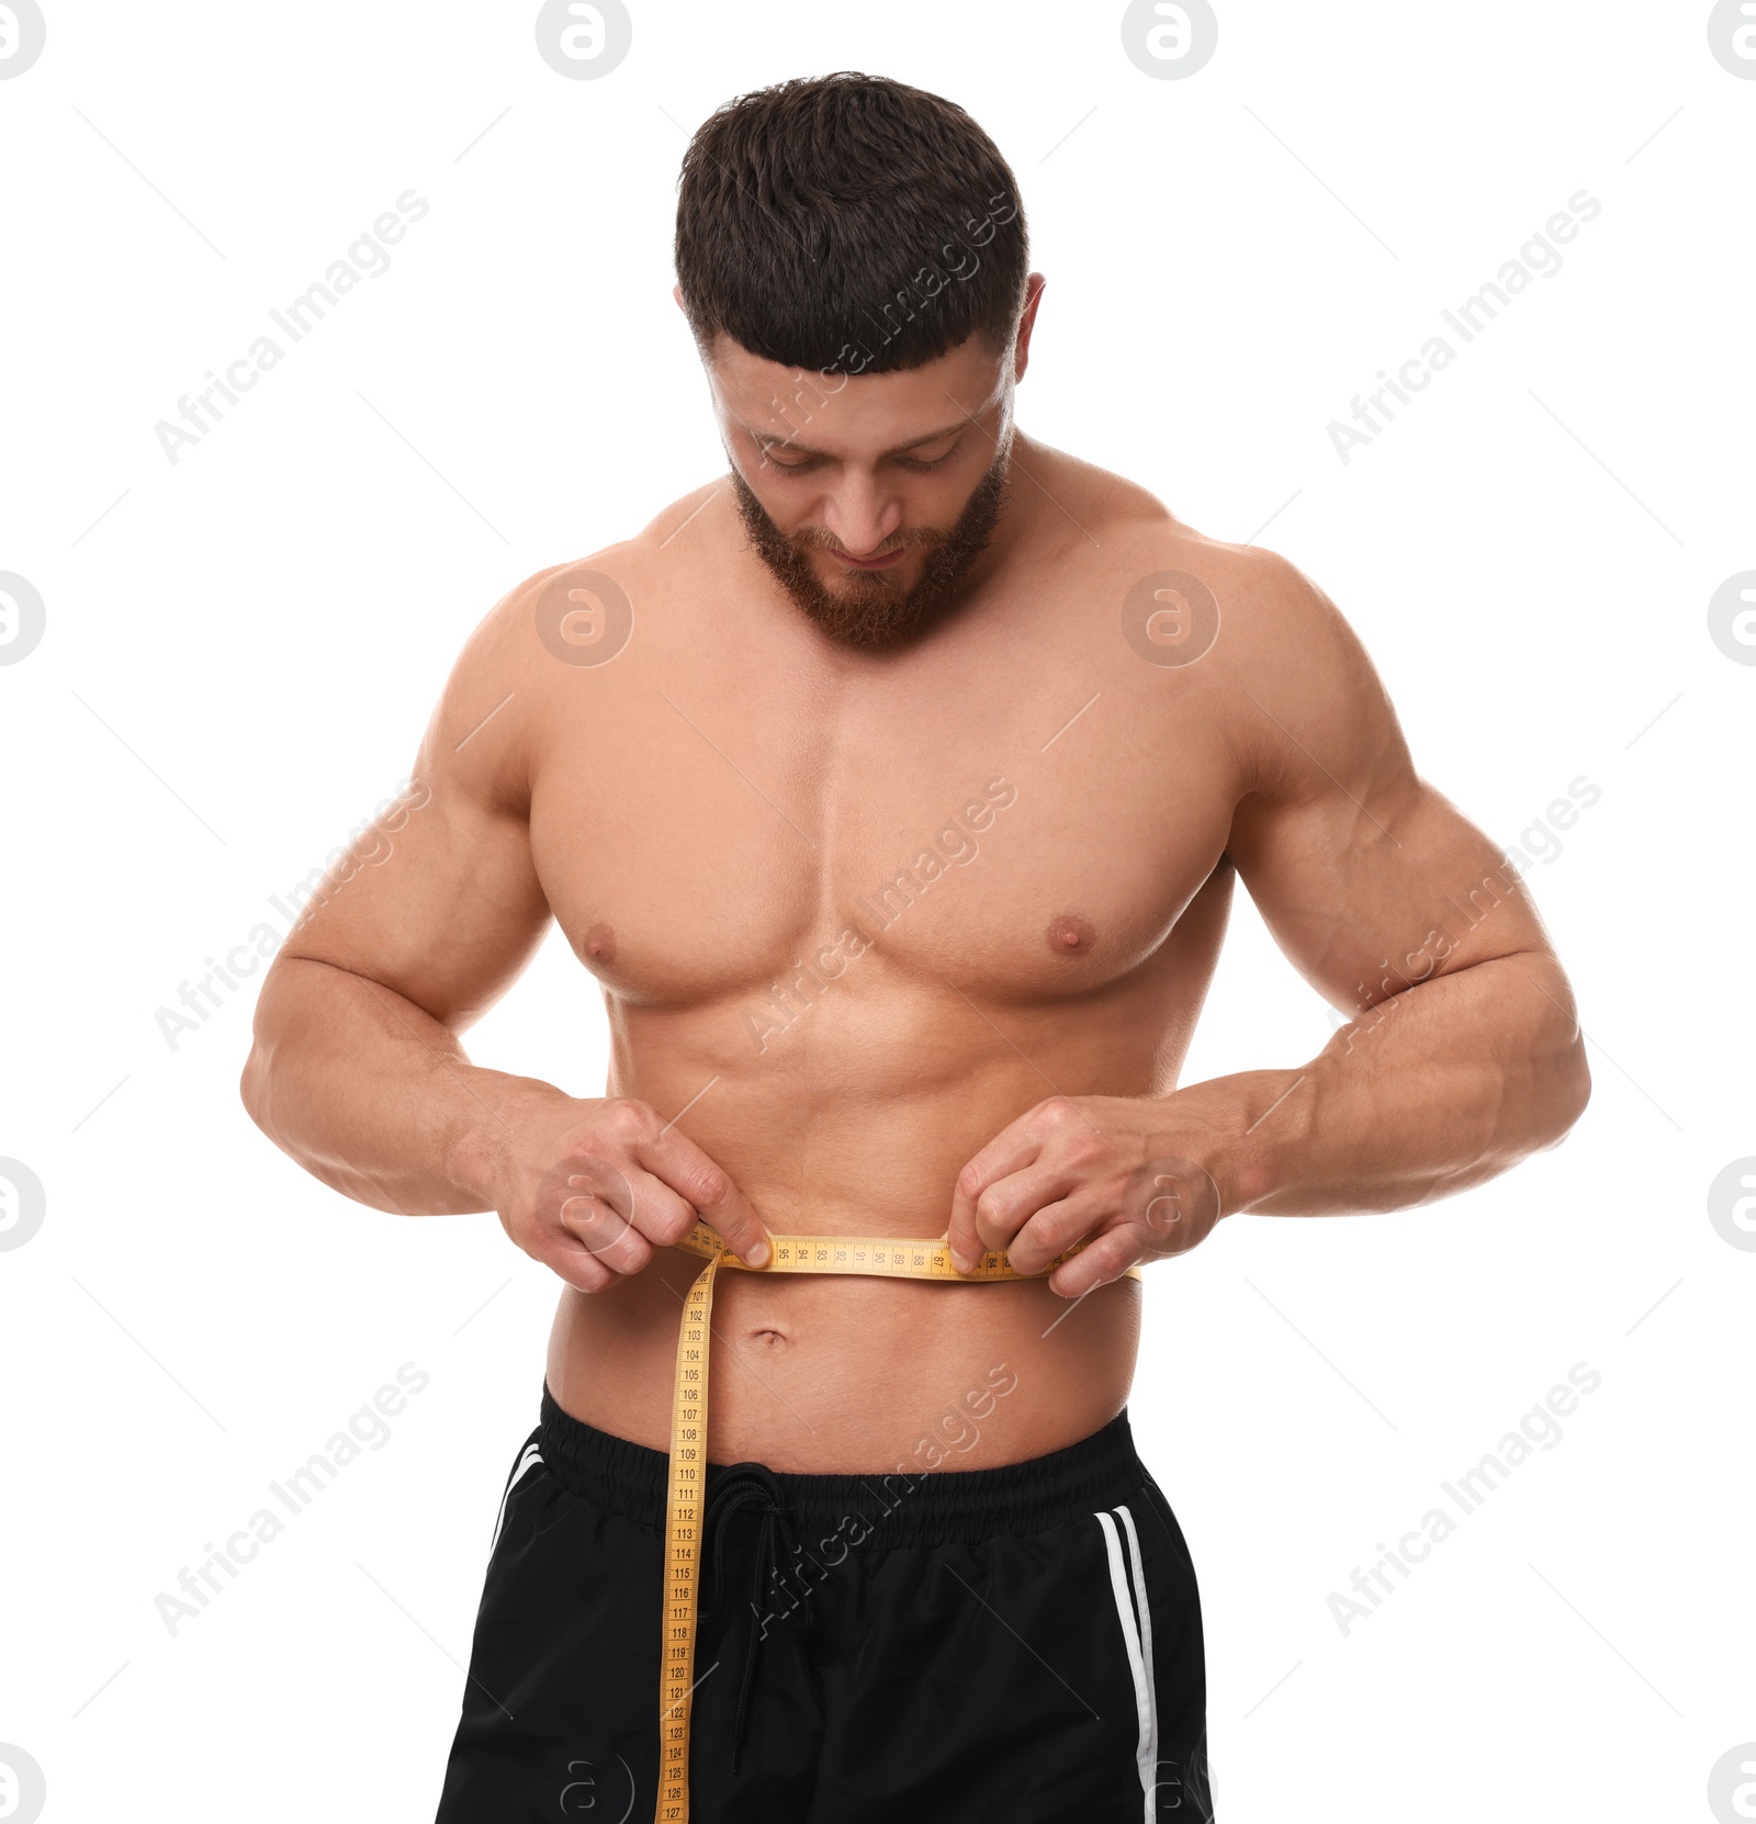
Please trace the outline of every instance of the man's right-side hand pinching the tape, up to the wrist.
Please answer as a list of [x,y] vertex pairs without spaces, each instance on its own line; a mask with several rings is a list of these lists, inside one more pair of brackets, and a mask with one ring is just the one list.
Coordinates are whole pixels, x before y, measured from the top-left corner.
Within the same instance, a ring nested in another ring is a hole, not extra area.
[[1140,1260],[1187,1253],[1220,1220],[1220,1189],[1185,1155],[1211,1136],[1174,1116],[1176,1098],[1050,1096],[957,1173],[950,1244],[959,1271],[985,1248],[1021,1273],[1089,1240],[1048,1277],[1078,1299]]

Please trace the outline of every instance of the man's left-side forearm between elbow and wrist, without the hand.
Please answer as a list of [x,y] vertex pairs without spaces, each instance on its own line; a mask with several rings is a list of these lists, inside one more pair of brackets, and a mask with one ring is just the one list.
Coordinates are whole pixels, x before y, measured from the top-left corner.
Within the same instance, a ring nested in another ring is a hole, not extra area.
[[414,1001],[305,958],[283,958],[263,985],[241,1089],[255,1124],[306,1171],[399,1215],[492,1207],[518,1127],[567,1100],[472,1065]]

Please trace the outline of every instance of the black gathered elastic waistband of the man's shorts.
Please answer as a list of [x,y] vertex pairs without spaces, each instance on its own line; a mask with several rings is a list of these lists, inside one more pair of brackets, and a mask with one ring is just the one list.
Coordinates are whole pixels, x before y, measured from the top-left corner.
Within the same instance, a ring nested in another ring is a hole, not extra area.
[[[543,1386],[538,1425],[542,1459],[573,1494],[638,1525],[664,1530],[669,1492],[666,1452],[600,1432],[563,1412]],[[711,1501],[726,1476],[749,1465],[708,1465]],[[1116,1507],[1145,1483],[1127,1408],[1109,1425],[1041,1457],[981,1470],[921,1470],[906,1465],[866,1476],[764,1470],[790,1518],[811,1530],[841,1532],[857,1550],[950,1545],[999,1534],[1047,1532]]]

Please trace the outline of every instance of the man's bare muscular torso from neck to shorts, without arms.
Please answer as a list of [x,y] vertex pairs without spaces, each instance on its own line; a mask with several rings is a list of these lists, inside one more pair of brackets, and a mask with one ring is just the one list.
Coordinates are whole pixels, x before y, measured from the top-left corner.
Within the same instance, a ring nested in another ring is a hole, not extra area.
[[[1249,702],[1236,637],[1163,662],[1125,620],[1160,571],[1251,618],[1255,554],[1101,471],[1025,460],[1041,485],[1019,483],[1007,562],[903,653],[830,648],[709,489],[527,591],[536,611],[556,576],[609,575],[633,607],[609,662],[525,638],[514,679],[531,855],[604,987],[609,1089],[677,1116],[773,1231],[943,1235],[959,1167],[1034,1104],[1176,1085],[1231,901]],[[1160,600],[1176,633],[1187,604]],[[662,1251],[609,1293],[563,1291],[563,1408],[664,1445],[697,1268]],[[1059,1448],[1121,1408],[1140,1297],[729,1275],[711,1456]]]

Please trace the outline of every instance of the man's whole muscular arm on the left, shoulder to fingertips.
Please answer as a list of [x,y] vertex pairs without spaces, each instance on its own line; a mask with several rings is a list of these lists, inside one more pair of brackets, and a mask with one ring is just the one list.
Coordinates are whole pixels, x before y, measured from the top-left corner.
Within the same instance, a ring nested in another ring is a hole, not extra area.
[[697,1213],[746,1257],[762,1228],[644,1104],[485,1071],[461,1045],[549,925],[529,828],[532,737],[556,669],[532,658],[547,575],[470,638],[410,792],[288,934],[241,1089],[268,1138],[334,1189],[405,1215],[494,1209],[527,1253],[598,1291]]

